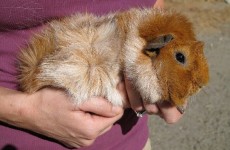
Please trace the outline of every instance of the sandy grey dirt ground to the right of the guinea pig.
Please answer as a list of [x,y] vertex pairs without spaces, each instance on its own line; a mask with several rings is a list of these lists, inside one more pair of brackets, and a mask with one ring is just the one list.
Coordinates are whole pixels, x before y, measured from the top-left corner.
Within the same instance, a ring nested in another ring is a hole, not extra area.
[[230,4],[224,0],[166,0],[187,15],[205,42],[210,83],[190,99],[183,118],[168,125],[151,116],[153,150],[230,150]]

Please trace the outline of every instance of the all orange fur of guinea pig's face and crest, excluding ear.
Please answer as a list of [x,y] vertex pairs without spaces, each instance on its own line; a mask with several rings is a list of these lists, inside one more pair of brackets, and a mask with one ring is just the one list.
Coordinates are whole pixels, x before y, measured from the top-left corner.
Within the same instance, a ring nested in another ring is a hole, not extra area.
[[[146,44],[165,34],[173,35],[174,40],[163,47],[159,55],[152,56],[152,69],[156,70],[162,88],[161,100],[169,100],[177,106],[183,106],[188,97],[209,80],[203,43],[196,41],[192,24],[187,18],[176,12],[148,16],[139,26],[139,35],[145,39]],[[182,51],[187,55],[186,65],[175,61],[176,51]],[[138,63],[149,64],[151,56],[148,55],[140,53]],[[148,97],[146,100],[151,103]]]

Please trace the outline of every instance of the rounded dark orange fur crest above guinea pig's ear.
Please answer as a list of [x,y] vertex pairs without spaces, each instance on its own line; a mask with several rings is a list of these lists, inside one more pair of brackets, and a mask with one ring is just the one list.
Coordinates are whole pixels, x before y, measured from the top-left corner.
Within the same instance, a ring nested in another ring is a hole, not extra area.
[[140,25],[139,32],[140,36],[147,41],[158,35],[168,33],[181,40],[196,40],[192,24],[182,14],[176,12],[163,12],[149,16]]

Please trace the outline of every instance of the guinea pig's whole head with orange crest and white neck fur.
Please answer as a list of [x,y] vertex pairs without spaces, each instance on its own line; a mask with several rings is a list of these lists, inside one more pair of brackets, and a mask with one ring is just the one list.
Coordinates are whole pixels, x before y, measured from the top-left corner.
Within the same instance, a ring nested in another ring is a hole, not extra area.
[[150,10],[138,21],[125,45],[126,76],[146,103],[166,100],[183,106],[208,83],[204,44],[179,13]]

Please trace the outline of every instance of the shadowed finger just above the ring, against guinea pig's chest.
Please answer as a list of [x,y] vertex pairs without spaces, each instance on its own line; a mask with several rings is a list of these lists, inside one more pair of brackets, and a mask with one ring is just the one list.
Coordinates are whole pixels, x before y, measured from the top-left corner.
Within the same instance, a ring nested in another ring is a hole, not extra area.
[[129,97],[129,103],[131,108],[135,111],[144,110],[143,102],[140,94],[138,93],[138,91],[134,89],[132,83],[127,78],[125,78],[125,86]]

